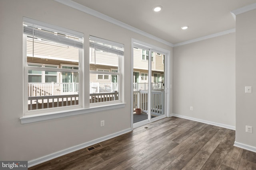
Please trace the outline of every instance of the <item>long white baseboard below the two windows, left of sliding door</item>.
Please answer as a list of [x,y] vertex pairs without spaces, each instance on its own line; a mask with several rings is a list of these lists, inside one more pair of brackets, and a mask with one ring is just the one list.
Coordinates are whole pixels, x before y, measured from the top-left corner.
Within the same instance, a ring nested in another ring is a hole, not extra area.
[[131,128],[128,128],[128,129],[124,129],[123,131],[119,131],[119,132],[116,132],[116,133],[113,133],[113,134],[110,134],[110,135],[107,135],[107,136],[104,136],[104,137],[100,137],[98,139],[94,139],[92,141],[89,141],[89,142],[86,142],[86,143],[82,143],[80,145],[76,145],[76,146],[73,146],[73,147],[70,147],[70,148],[67,148],[67,149],[63,149],[63,150],[60,150],[60,151],[57,151],[57,152],[54,152],[52,154],[48,154],[46,156],[42,156],[40,158],[36,158],[36,159],[33,159],[33,160],[29,160],[28,161],[28,168],[31,167],[31,166],[35,166],[37,164],[41,164],[43,162],[46,162],[48,160],[52,160],[54,158],[58,158],[60,156],[63,156],[65,154],[68,154],[68,153],[71,153],[71,152],[74,152],[76,150],[79,150],[79,149],[83,149],[83,148],[86,148],[86,147],[90,147],[92,145],[95,145],[97,143],[100,143],[100,142],[103,142],[103,141],[106,141],[108,139],[112,139],[114,137],[117,137],[117,136],[120,136],[120,135],[123,135],[125,133],[128,133],[132,131]]

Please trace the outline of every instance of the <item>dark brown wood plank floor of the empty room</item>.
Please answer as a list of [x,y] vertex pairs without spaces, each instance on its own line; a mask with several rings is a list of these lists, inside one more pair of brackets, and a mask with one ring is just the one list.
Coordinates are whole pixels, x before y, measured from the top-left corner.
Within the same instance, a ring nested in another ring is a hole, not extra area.
[[256,170],[256,153],[234,141],[233,130],[170,117],[28,169]]

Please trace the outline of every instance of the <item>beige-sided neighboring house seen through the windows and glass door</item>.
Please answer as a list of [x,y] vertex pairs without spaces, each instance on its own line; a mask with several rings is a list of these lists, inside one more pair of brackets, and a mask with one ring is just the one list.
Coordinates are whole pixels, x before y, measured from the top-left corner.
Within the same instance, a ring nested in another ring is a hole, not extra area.
[[[52,46],[55,46],[54,50],[52,49]],[[75,47],[60,45],[42,39],[34,39],[33,42],[32,38],[27,38],[27,62],[30,66],[77,70],[78,53],[79,51]],[[153,86],[154,89],[161,89],[164,85],[165,55],[152,52],[150,56],[152,57],[151,82],[155,83]],[[149,51],[134,48],[135,84],[148,83],[148,57]],[[90,48],[90,70],[106,72],[106,74],[90,75],[90,93],[118,90],[118,86],[115,84],[118,82],[118,76],[108,74],[108,72],[118,72],[117,55]],[[57,73],[30,70],[28,73],[29,83],[78,83],[78,81],[78,73],[72,71]],[[161,84],[156,85],[156,83]],[[143,90],[143,88],[140,88],[140,90]],[[63,92],[69,91],[72,92],[73,90],[63,90]],[[44,94],[47,95],[48,92],[45,92]]]

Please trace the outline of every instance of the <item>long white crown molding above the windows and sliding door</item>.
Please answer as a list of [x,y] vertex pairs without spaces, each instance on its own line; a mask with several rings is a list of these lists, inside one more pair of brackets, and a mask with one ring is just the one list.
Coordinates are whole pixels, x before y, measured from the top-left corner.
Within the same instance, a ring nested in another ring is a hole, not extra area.
[[105,14],[102,14],[102,13],[100,13],[100,12],[98,12],[98,11],[92,10],[91,8],[88,8],[88,7],[86,7],[86,6],[83,6],[83,5],[81,5],[81,4],[78,4],[77,2],[74,2],[74,1],[72,1],[72,0],[54,0],[54,1],[59,2],[59,3],[61,3],[61,4],[64,4],[64,5],[66,5],[66,6],[69,6],[69,7],[71,7],[71,8],[74,8],[74,9],[76,9],[76,10],[79,10],[79,11],[81,11],[81,12],[84,12],[84,13],[86,13],[86,14],[89,14],[89,15],[91,15],[91,16],[94,16],[94,17],[100,18],[100,19],[102,19],[102,20],[108,21],[108,22],[110,22],[110,23],[113,23],[113,24],[118,25],[118,26],[120,26],[120,27],[123,27],[123,28],[125,28],[125,29],[128,29],[128,30],[130,30],[130,31],[133,31],[133,32],[138,33],[138,34],[140,34],[140,35],[143,35],[143,36],[145,36],[145,37],[148,37],[148,38],[150,38],[150,39],[154,39],[154,40],[156,40],[156,41],[158,41],[158,42],[160,42],[160,43],[163,43],[163,44],[165,44],[165,45],[168,45],[168,46],[170,46],[170,47],[174,47],[174,45],[173,45],[172,43],[168,42],[168,41],[165,41],[165,40],[163,40],[163,39],[160,39],[160,38],[158,38],[158,37],[156,37],[156,36],[154,36],[154,35],[151,35],[151,34],[149,34],[149,33],[146,33],[146,32],[144,32],[144,31],[142,31],[142,30],[140,30],[140,29],[137,29],[137,28],[135,28],[135,27],[132,27],[132,26],[126,24],[126,23],[123,23],[123,22],[118,21],[118,20],[116,20],[116,19],[114,19],[114,18],[111,18],[111,17],[109,17],[109,16],[106,16]]

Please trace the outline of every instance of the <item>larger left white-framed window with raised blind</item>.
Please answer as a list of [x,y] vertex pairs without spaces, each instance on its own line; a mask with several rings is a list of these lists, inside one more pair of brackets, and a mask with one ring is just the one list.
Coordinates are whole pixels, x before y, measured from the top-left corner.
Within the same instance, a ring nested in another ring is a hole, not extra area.
[[[23,18],[24,115],[82,107],[83,33]],[[60,67],[76,63],[76,68]],[[63,82],[76,74],[76,84]],[[62,77],[62,79],[60,79]],[[78,78],[79,77],[79,78]],[[80,92],[80,93],[79,93]]]

